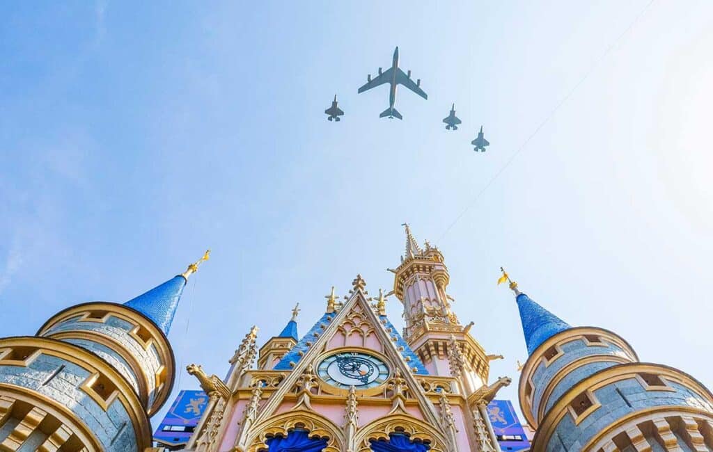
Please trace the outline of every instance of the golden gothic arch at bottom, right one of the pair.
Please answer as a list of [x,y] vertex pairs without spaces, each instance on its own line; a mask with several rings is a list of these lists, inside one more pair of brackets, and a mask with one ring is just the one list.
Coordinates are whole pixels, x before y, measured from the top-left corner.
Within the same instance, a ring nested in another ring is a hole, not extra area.
[[359,429],[356,434],[357,452],[371,452],[371,439],[389,439],[390,433],[404,433],[411,440],[422,441],[431,446],[431,452],[447,452],[446,438],[434,429],[434,426],[426,424],[420,419],[408,414],[392,414],[381,419],[371,421]]

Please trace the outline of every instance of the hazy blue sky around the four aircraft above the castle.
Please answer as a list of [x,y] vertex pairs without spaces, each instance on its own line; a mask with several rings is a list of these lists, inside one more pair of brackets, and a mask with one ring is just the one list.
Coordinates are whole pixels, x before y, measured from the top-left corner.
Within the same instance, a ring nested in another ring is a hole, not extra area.
[[[526,357],[505,266],[570,324],[713,387],[710,2],[0,9],[2,335],[133,298],[211,248],[170,340],[181,367],[222,375],[252,324],[266,340],[299,302],[304,332],[356,273],[391,288],[408,221],[506,356],[493,377]],[[385,87],[356,94],[396,45],[429,93],[399,93],[402,122],[379,120]]]

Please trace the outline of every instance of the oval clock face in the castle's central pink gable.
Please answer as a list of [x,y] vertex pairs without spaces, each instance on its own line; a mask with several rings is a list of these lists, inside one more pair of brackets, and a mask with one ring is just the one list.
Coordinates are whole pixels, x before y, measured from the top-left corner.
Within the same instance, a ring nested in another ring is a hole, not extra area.
[[317,374],[332,386],[368,389],[389,378],[389,367],[381,359],[360,352],[340,352],[322,359]]

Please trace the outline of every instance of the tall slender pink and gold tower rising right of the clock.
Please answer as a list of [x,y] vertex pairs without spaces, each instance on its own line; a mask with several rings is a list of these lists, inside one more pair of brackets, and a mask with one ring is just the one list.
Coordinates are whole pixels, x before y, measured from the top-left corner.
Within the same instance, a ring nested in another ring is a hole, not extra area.
[[468,333],[451,309],[446,293],[448,268],[443,254],[426,241],[421,248],[406,227],[406,254],[394,273],[394,295],[404,305],[404,339],[434,375],[457,377],[463,391],[473,391],[488,382],[489,360],[483,347]]

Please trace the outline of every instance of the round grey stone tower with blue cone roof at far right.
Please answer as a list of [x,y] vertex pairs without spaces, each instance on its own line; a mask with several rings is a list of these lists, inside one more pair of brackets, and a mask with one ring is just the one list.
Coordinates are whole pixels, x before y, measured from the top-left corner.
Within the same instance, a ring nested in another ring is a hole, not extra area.
[[615,333],[571,327],[511,288],[529,354],[519,397],[537,429],[533,452],[713,450],[713,395],[702,384],[640,362]]

